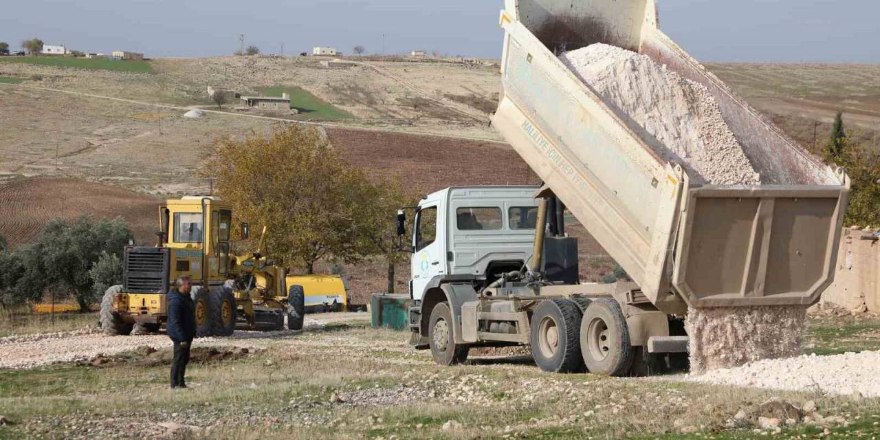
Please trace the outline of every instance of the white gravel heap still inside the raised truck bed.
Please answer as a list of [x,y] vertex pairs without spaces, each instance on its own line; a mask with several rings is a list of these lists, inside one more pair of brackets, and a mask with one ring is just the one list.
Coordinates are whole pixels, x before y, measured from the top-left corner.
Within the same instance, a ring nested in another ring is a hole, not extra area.
[[683,165],[693,183],[760,183],[702,84],[646,55],[601,43],[566,52],[560,59],[657,154]]

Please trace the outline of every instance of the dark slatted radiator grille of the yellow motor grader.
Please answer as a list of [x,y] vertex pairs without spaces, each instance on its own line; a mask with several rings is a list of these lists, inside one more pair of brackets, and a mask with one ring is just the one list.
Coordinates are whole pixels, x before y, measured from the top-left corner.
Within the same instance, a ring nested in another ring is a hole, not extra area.
[[125,250],[123,287],[134,293],[165,293],[168,286],[168,252],[160,247]]

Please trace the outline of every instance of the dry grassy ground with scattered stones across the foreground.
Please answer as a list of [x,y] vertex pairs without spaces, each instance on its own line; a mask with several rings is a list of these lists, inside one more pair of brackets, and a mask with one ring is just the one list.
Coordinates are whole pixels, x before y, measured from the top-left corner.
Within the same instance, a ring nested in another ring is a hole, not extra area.
[[760,404],[774,396],[797,407],[812,400],[828,421],[774,438],[880,431],[876,399],[547,374],[527,357],[438,367],[405,340],[363,317],[243,339],[235,343],[250,345],[245,356],[218,348],[191,364],[182,392],[167,389],[167,348],[0,370],[9,422],[0,438],[755,438]]

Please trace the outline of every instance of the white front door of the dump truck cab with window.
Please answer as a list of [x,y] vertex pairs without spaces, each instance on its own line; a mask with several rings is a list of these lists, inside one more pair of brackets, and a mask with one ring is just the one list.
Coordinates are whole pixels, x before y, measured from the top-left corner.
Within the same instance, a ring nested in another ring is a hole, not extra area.
[[415,214],[413,259],[411,260],[412,297],[422,299],[431,278],[446,272],[444,234],[437,222],[437,204],[426,204]]

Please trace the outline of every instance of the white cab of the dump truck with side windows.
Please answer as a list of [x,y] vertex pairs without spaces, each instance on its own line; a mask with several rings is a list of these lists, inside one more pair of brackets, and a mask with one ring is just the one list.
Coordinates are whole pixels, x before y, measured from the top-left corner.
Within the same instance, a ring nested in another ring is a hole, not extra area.
[[532,254],[538,187],[448,187],[426,195],[412,224],[410,297],[450,281],[488,284]]

